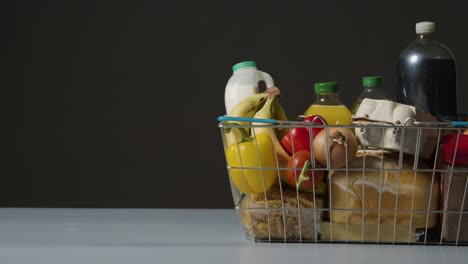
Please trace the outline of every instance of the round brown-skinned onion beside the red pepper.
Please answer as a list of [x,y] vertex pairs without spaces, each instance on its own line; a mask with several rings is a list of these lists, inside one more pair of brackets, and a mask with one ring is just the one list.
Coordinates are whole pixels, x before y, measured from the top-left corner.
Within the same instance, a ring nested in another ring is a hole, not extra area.
[[320,165],[327,166],[327,141],[330,148],[330,168],[343,168],[356,157],[358,143],[351,130],[331,127],[328,131],[323,129],[314,138],[314,156]]

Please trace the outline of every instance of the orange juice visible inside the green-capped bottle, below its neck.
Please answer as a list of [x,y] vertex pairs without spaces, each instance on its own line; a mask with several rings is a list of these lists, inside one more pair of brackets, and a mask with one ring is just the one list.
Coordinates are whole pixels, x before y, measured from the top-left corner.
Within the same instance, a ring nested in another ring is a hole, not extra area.
[[305,116],[319,115],[328,125],[352,125],[352,114],[345,105],[312,104],[307,108]]

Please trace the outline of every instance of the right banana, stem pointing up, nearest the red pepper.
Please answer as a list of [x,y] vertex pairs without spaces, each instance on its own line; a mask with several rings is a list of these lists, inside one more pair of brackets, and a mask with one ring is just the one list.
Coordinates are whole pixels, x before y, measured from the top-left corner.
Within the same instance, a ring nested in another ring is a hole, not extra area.
[[[254,115],[254,118],[274,118],[274,113],[275,113],[275,101],[278,100],[278,95],[279,95],[279,89],[277,89],[277,92],[270,92],[270,96],[268,97],[267,101],[263,105],[263,107]],[[263,125],[265,126],[265,123],[256,123],[252,122],[252,125]],[[267,133],[270,135],[271,140],[273,141],[273,144],[275,145],[276,149],[276,155],[278,157],[279,165],[283,165],[284,162],[287,163],[289,160],[289,154],[283,149],[281,146],[280,141],[278,140],[278,137],[276,136],[276,133],[274,132],[274,129],[271,127],[252,127],[252,136],[258,135],[260,133]]]

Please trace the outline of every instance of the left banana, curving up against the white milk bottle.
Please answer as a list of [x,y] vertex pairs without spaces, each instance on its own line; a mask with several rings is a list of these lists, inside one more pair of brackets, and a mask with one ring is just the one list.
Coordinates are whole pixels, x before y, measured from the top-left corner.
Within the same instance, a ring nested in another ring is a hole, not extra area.
[[[255,113],[263,106],[269,96],[269,91],[260,94],[253,94],[240,101],[229,113],[229,116],[252,118]],[[248,122],[236,122],[239,125],[248,125]],[[248,132],[248,131],[247,131]],[[236,139],[237,138],[237,139]],[[229,129],[226,131],[227,146],[240,142],[242,134],[238,129]]]

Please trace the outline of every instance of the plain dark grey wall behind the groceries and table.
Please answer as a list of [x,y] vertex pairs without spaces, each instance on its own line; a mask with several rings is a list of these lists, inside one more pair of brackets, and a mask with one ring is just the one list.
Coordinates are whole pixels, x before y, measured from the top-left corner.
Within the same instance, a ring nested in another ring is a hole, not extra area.
[[351,105],[364,75],[392,91],[422,20],[455,54],[468,112],[461,2],[10,1],[0,206],[232,207],[216,121],[232,64],[270,73],[291,117],[314,82]]

